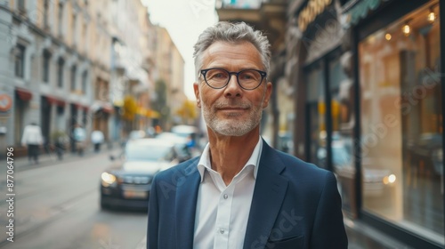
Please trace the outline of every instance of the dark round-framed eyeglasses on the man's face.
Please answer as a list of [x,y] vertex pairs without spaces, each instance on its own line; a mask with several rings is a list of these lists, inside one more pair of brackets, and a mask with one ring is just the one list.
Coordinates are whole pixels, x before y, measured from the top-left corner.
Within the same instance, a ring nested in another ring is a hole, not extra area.
[[266,72],[256,69],[246,69],[237,72],[229,72],[223,68],[207,68],[201,70],[201,75],[208,86],[214,89],[224,88],[231,81],[231,76],[236,75],[239,86],[245,90],[254,90],[263,82]]

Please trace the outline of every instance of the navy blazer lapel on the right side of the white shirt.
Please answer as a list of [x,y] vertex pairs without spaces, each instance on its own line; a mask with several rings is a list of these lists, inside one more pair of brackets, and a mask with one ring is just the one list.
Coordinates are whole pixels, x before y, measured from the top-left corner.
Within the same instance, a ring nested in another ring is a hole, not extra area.
[[287,179],[279,174],[284,167],[277,153],[263,141],[244,248],[264,248],[267,243],[287,190]]

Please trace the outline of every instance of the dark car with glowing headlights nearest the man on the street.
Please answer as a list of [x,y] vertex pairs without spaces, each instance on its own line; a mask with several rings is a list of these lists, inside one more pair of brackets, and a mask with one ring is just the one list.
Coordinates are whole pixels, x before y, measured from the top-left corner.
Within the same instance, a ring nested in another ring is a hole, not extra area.
[[147,208],[155,174],[180,161],[173,142],[128,141],[120,159],[101,173],[101,208]]

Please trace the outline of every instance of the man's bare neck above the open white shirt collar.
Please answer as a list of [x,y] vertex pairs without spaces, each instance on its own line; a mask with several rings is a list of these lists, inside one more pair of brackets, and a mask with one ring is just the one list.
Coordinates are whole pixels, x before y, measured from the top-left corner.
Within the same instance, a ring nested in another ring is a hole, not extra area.
[[240,137],[209,135],[212,169],[221,174],[226,186],[246,165],[259,137],[259,133],[255,131]]

